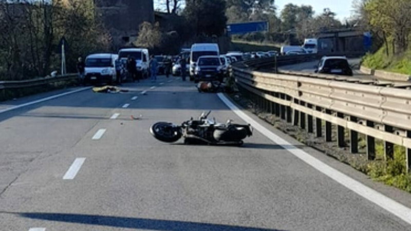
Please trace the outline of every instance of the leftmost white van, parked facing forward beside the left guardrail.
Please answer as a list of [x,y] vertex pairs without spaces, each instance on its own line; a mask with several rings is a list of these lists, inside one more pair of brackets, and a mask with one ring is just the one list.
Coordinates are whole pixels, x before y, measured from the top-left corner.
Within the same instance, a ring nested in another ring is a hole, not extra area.
[[116,81],[115,62],[117,54],[98,53],[86,57],[84,68],[84,82],[90,84],[107,83]]

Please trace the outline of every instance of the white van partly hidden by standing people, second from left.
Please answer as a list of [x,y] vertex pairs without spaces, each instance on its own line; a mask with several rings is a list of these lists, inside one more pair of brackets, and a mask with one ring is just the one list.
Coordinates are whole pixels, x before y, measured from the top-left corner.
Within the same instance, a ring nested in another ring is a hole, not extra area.
[[119,58],[126,60],[128,55],[136,60],[138,78],[148,78],[150,75],[150,55],[145,48],[124,48],[119,50]]

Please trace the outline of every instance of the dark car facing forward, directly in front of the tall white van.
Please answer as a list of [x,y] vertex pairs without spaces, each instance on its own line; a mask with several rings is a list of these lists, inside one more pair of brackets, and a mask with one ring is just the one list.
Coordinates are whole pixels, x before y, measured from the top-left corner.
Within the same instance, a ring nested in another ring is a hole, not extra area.
[[200,56],[195,64],[194,75],[195,82],[222,81],[224,76],[220,57],[217,55]]

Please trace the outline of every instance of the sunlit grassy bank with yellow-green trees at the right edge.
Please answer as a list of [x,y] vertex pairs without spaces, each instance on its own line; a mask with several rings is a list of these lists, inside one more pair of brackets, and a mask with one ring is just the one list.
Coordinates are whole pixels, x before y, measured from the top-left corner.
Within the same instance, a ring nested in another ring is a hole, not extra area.
[[368,54],[363,64],[411,74],[411,1],[358,0],[359,16],[367,22],[377,45],[381,48]]

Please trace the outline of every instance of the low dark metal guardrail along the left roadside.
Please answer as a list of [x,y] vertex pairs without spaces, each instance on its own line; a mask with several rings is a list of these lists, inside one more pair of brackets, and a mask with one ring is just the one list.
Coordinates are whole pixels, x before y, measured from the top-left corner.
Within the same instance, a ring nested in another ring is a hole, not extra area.
[[55,77],[45,77],[45,78],[36,78],[32,80],[21,80],[21,81],[0,81],[0,90],[4,89],[17,89],[17,88],[26,88],[26,87],[36,87],[46,84],[51,84],[59,81],[71,81],[78,78],[77,74],[65,74],[58,75]]

